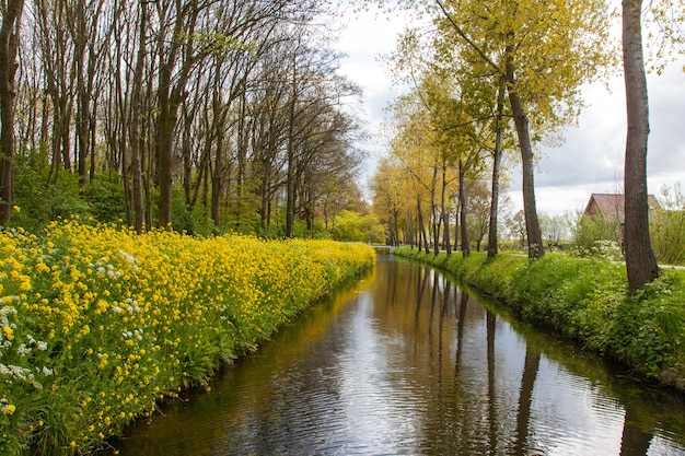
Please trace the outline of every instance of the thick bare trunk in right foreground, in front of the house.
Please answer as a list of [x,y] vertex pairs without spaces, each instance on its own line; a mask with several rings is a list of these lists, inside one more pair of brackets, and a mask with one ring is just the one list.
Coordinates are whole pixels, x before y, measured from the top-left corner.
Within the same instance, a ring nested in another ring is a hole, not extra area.
[[628,114],[625,162],[625,255],[628,288],[635,291],[659,276],[649,235],[647,138],[649,101],[642,57],[642,0],[623,0],[623,55]]

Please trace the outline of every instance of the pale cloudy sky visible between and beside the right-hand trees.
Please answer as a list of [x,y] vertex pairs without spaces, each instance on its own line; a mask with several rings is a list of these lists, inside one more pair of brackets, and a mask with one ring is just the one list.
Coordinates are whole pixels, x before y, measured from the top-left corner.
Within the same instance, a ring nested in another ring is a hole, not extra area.
[[[368,12],[346,14],[347,27],[338,42],[346,52],[340,72],[364,90],[363,113],[372,140],[364,143],[371,153],[369,169],[387,148],[378,128],[387,114],[384,108],[398,95],[380,56],[395,48],[397,34],[413,20],[398,12],[393,17]],[[648,188],[659,195],[661,187],[685,186],[685,73],[683,59],[667,67],[663,74],[648,77],[650,101],[650,137]],[[583,91],[588,107],[578,127],[562,131],[566,139],[559,148],[542,148],[542,160],[535,176],[537,209],[547,214],[583,209],[590,194],[623,191],[623,165],[626,140],[626,114],[623,77]],[[510,194],[522,207],[519,169],[512,172]],[[684,189],[685,190],[685,189]]]

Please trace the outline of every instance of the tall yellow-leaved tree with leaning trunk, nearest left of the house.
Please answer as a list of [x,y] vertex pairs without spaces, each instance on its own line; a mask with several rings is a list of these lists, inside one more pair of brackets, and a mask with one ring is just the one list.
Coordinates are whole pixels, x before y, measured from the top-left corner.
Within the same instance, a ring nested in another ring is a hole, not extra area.
[[[537,220],[533,139],[578,114],[579,87],[608,59],[603,0],[443,2],[463,46],[506,81],[521,151],[529,256],[544,255]],[[589,65],[592,62],[592,65]]]

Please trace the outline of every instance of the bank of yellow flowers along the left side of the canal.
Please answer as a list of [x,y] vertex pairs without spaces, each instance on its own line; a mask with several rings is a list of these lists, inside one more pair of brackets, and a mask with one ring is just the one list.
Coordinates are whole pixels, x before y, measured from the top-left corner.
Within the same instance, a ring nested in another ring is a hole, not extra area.
[[0,454],[76,454],[373,267],[330,241],[0,234]]

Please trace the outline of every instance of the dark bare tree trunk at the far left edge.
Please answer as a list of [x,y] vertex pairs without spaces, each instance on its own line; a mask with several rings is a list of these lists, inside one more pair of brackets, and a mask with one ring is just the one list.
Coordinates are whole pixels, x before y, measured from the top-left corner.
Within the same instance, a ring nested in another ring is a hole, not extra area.
[[24,1],[8,0],[3,3],[7,9],[2,11],[0,30],[0,224],[10,220],[14,200],[14,75]]

